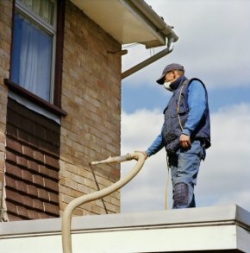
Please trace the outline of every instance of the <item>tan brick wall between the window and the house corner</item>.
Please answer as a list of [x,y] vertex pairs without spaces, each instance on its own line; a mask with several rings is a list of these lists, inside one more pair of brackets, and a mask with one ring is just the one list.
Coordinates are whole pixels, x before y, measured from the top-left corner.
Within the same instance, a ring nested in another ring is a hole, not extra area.
[[[60,210],[73,198],[120,178],[119,165],[93,168],[89,162],[120,154],[121,59],[108,54],[120,44],[67,1],[61,125]],[[94,174],[93,174],[94,173]],[[95,181],[96,178],[96,181]],[[76,209],[76,215],[120,211],[113,193]]]

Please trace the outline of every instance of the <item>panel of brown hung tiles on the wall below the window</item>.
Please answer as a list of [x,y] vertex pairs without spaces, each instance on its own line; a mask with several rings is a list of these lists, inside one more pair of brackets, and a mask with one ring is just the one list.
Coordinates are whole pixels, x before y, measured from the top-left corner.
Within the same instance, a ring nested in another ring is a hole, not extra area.
[[9,98],[6,135],[8,219],[58,217],[60,126]]

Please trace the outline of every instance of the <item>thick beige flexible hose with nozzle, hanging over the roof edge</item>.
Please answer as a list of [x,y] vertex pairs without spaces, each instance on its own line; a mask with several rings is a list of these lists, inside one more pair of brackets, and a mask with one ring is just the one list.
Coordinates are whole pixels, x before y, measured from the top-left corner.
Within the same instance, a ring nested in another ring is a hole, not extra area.
[[132,154],[127,154],[125,156],[109,157],[106,160],[92,162],[92,165],[100,163],[120,163],[129,160],[137,160],[133,169],[122,179],[112,184],[111,186],[102,189],[97,192],[90,193],[72,200],[65,208],[62,217],[62,246],[63,253],[72,253],[72,239],[71,239],[71,221],[73,211],[80,205],[88,203],[90,201],[103,198],[126,185],[130,180],[132,180],[138,172],[141,170],[145,162],[145,156],[141,152],[134,152]]

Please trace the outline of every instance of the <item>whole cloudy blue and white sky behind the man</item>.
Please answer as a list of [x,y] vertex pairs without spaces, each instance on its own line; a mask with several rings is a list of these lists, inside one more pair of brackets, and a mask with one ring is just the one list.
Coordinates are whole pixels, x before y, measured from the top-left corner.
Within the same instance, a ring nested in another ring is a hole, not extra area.
[[[174,50],[122,81],[121,154],[146,150],[160,133],[171,93],[156,83],[169,63],[206,84],[212,146],[195,187],[197,207],[236,204],[250,211],[250,0],[146,0],[179,40]],[[123,71],[163,50],[124,47]],[[122,176],[133,162],[121,164]],[[166,153],[148,158],[121,190],[121,212],[172,206]]]

